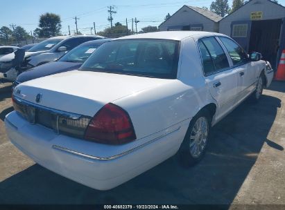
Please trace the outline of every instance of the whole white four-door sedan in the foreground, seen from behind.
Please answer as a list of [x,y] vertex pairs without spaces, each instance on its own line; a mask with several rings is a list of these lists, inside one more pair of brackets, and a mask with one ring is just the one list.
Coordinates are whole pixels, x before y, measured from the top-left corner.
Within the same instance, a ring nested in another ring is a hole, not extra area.
[[270,85],[260,58],[212,32],[121,37],[78,70],[17,86],[8,137],[38,164],[100,190],[177,152],[192,165],[211,126]]

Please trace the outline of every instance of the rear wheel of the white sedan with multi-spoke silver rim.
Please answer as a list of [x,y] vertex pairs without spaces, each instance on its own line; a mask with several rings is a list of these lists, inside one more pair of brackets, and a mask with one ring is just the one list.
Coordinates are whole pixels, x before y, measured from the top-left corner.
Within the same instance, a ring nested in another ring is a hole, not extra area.
[[205,155],[210,129],[211,116],[209,111],[200,111],[193,117],[178,152],[178,158],[182,166],[193,166],[202,160],[203,155]]

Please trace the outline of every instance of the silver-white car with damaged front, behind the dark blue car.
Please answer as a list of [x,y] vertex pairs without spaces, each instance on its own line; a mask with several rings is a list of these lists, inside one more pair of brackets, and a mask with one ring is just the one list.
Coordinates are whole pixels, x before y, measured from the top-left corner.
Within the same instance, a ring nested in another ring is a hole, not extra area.
[[[51,37],[26,51],[24,61],[21,64],[21,71],[58,59],[69,50],[72,50],[85,41],[104,38],[105,37],[96,35]],[[12,62],[14,58],[14,53],[10,53],[9,55],[0,58],[0,78],[8,79],[10,81],[14,81],[17,78],[18,72]]]

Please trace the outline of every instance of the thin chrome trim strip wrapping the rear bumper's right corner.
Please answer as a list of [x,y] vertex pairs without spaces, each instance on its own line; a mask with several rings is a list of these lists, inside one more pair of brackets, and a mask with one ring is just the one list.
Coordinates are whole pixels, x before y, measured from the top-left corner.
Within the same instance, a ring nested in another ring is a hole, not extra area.
[[52,148],[53,149],[57,149],[57,150],[60,150],[60,151],[64,151],[66,153],[71,153],[73,155],[78,155],[80,157],[83,157],[83,158],[88,158],[88,159],[91,159],[91,160],[100,160],[100,161],[107,161],[107,160],[114,160],[114,159],[117,159],[117,158],[121,158],[122,156],[124,155],[128,155],[129,153],[132,153],[133,151],[136,151],[137,149],[141,149],[142,147],[152,143],[152,142],[155,142],[159,139],[161,139],[162,137],[166,136],[166,135],[169,135],[171,133],[174,133],[175,131],[178,131],[180,129],[180,127],[178,128],[175,128],[173,131],[170,131],[169,133],[165,133],[163,135],[159,135],[159,137],[156,137],[155,139],[153,140],[150,140],[144,144],[141,144],[140,146],[137,146],[133,149],[130,149],[128,151],[125,151],[123,153],[119,153],[118,155],[113,155],[113,156],[110,156],[110,157],[98,157],[98,156],[93,156],[93,155],[87,155],[85,153],[79,153],[77,151],[73,151],[71,149],[67,149],[67,148],[64,148],[62,146],[58,146],[58,145],[53,145]]

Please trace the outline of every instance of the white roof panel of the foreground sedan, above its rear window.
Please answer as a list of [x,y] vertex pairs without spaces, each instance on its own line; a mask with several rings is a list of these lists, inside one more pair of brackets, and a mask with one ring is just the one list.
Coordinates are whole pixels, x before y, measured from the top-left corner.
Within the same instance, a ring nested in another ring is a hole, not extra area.
[[181,31],[159,31],[159,32],[148,32],[139,35],[130,35],[126,37],[120,37],[119,39],[171,39],[171,40],[182,40],[187,37],[204,37],[211,35],[220,35],[215,32],[207,32],[207,31],[189,31],[189,30],[181,30]]

